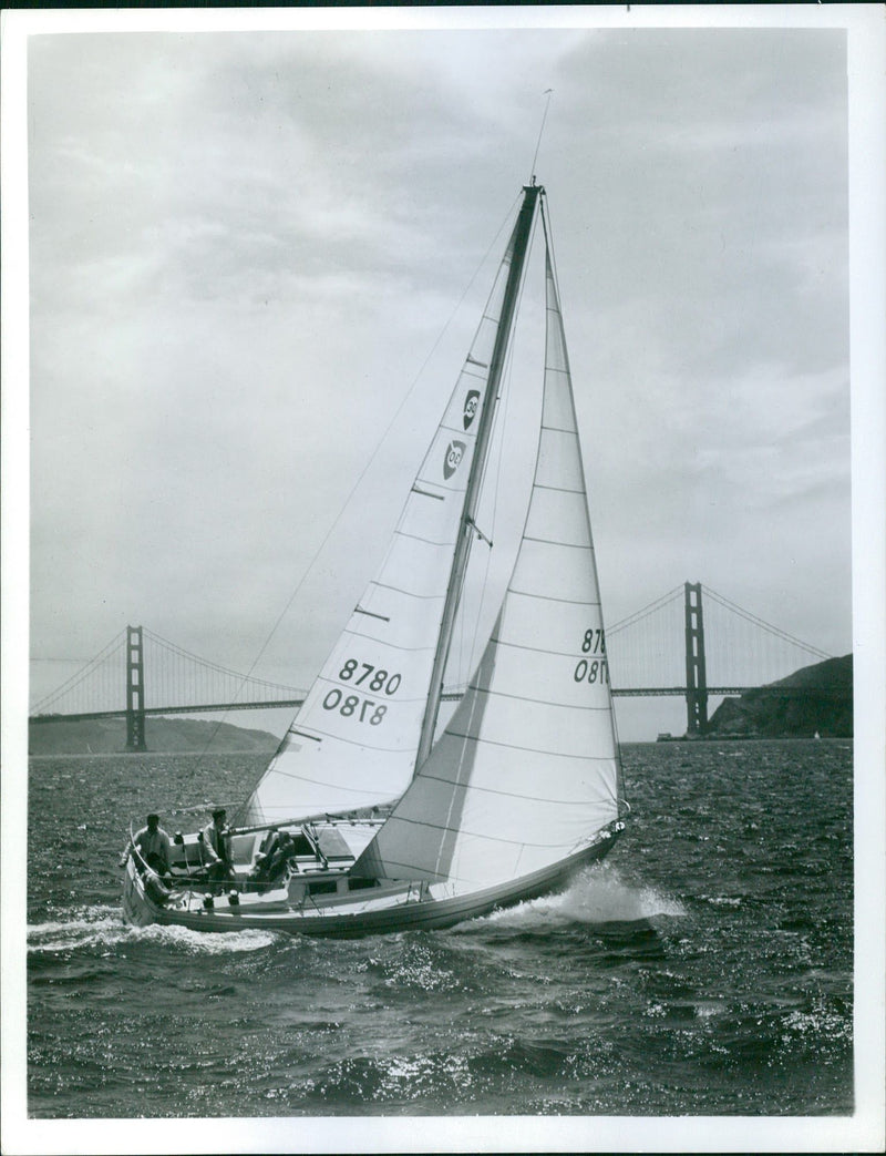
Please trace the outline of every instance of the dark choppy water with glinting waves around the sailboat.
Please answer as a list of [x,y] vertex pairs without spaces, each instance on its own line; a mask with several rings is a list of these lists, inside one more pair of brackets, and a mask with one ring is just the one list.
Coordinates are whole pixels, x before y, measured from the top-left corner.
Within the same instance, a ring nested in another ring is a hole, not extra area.
[[851,743],[624,754],[628,830],[565,894],[347,942],[122,925],[129,820],[254,758],[33,759],[29,1112],[851,1112]]

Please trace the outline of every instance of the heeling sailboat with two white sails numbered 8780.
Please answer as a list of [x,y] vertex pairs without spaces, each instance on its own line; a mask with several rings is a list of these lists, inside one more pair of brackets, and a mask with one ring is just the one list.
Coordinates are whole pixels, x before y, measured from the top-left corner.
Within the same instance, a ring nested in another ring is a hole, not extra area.
[[[445,721],[469,557],[491,547],[478,503],[539,232],[546,336],[528,509]],[[565,887],[612,847],[627,810],[546,194],[533,177],[379,572],[222,833],[223,862],[207,868],[202,832],[177,833],[159,866],[131,842],[124,916],[201,932],[448,927]]]

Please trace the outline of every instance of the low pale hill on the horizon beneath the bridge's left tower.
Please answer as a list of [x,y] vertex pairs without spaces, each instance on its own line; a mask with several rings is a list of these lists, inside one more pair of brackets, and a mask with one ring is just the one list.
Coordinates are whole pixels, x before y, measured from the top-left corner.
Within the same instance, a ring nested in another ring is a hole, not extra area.
[[[267,731],[248,731],[230,722],[176,717],[149,717],[146,721],[149,751],[164,755],[274,754],[280,742]],[[53,720],[30,722],[31,755],[113,755],[126,749],[126,719]]]

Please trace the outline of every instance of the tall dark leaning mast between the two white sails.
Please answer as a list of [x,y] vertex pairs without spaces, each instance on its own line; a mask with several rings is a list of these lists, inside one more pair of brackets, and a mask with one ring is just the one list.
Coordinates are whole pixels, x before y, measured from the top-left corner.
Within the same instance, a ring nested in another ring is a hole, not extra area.
[[486,390],[483,395],[483,408],[481,410],[479,424],[477,427],[477,440],[474,450],[474,459],[468,474],[468,487],[464,491],[464,505],[462,507],[461,526],[459,539],[453,555],[452,570],[449,571],[449,583],[446,587],[446,601],[444,602],[440,633],[437,639],[437,652],[434,653],[433,669],[431,670],[431,687],[427,696],[425,716],[422,720],[422,734],[418,741],[418,753],[416,755],[416,770],[424,763],[433,746],[434,729],[437,728],[437,716],[440,710],[440,697],[442,695],[444,673],[446,660],[449,657],[449,644],[452,643],[453,630],[455,629],[455,614],[461,598],[464,571],[468,569],[468,557],[470,543],[474,535],[474,517],[479,502],[479,486],[483,477],[486,455],[489,453],[489,442],[492,433],[492,420],[496,416],[496,401],[498,399],[501,375],[505,370],[505,358],[511,338],[511,329],[514,321],[516,299],[520,292],[520,283],[523,277],[523,266],[529,247],[529,236],[533,229],[535,207],[542,186],[535,184],[533,177],[531,185],[523,186],[523,203],[514,225],[511,238],[511,268],[507,274],[505,295],[501,301],[501,316],[498,323],[496,341],[490,360],[489,378]]

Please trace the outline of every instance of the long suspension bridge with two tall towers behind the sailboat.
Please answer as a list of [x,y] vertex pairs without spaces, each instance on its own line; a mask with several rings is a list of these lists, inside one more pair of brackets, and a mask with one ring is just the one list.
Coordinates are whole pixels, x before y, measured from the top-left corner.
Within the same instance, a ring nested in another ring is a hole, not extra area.
[[[709,698],[759,689],[832,657],[700,583],[684,583],[610,627],[606,655],[613,695],[685,698],[688,735],[703,734]],[[148,749],[149,716],[296,709],[305,694],[208,661],[144,627],[127,627],[36,703],[30,721],[125,716],[126,750],[141,751]]]

